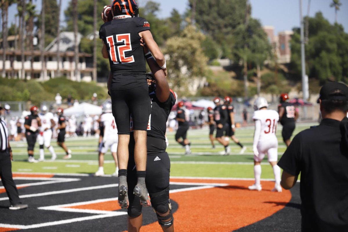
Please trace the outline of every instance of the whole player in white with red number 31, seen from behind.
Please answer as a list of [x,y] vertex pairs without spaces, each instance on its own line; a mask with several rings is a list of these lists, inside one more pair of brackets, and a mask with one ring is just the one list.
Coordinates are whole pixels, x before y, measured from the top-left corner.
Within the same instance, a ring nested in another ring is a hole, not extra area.
[[261,191],[260,184],[261,178],[261,161],[267,153],[268,162],[273,167],[273,173],[275,177],[275,187],[273,192],[282,192],[280,186],[280,167],[278,162],[278,139],[276,137],[277,124],[279,121],[279,114],[275,110],[268,110],[267,100],[263,97],[259,97],[254,102],[254,115],[253,120],[255,122],[253,152],[254,152],[254,176],[255,184],[249,186],[250,190]]

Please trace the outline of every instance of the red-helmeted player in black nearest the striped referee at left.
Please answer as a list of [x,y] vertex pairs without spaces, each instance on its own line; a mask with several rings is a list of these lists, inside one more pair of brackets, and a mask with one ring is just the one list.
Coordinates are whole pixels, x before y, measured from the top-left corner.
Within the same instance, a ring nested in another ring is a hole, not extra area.
[[32,106],[30,108],[31,114],[25,117],[25,137],[28,143],[28,162],[37,163],[38,161],[34,158],[34,146],[36,138],[38,136],[38,129],[41,126],[41,120],[38,116],[39,108]]

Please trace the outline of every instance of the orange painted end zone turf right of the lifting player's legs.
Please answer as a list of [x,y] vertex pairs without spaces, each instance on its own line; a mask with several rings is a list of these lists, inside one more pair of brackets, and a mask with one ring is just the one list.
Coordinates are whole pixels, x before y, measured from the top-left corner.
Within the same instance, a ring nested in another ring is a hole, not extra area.
[[[174,213],[176,231],[232,231],[256,223],[283,209],[291,200],[291,193],[271,192],[274,182],[262,181],[262,191],[247,187],[246,180],[188,180],[178,182],[226,183],[228,186],[172,193],[170,198],[179,208]],[[194,223],[193,223],[194,222]],[[143,232],[158,231],[157,222],[142,226]]]

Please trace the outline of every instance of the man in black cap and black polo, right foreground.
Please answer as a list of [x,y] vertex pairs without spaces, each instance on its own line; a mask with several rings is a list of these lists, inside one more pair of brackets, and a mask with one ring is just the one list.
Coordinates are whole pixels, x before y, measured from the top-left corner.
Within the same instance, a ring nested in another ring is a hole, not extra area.
[[320,90],[321,124],[300,132],[280,158],[281,185],[301,172],[302,231],[348,231],[348,87],[329,82]]

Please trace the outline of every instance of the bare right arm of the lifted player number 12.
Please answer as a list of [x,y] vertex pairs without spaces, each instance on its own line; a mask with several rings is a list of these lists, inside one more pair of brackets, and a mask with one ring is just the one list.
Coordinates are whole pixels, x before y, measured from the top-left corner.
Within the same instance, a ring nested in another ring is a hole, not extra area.
[[155,40],[153,40],[151,31],[141,31],[139,32],[139,36],[144,40],[146,46],[149,48],[153,57],[155,58],[159,67],[163,69],[164,75],[167,76],[167,68],[166,68],[166,60],[164,59],[164,55],[159,49]]

